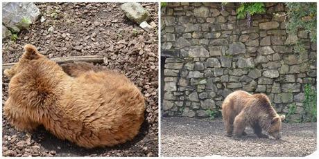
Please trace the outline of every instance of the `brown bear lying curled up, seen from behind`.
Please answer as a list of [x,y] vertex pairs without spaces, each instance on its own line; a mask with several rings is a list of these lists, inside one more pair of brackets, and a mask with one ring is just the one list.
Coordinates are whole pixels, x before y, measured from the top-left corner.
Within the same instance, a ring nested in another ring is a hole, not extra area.
[[[144,122],[144,96],[130,80],[90,64],[65,67],[26,45],[10,77],[4,114],[20,131],[39,125],[80,147],[112,146],[131,140]],[[71,76],[70,76],[71,75]]]

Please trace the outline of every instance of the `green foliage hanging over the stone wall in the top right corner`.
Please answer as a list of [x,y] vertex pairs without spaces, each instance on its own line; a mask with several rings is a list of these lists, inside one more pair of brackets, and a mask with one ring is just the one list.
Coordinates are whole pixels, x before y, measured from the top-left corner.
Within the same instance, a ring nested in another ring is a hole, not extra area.
[[[303,29],[309,34],[310,41],[317,41],[317,5],[316,3],[286,3],[288,12],[286,17],[286,31],[289,34],[298,35],[298,31]],[[295,52],[303,53],[307,50],[304,41],[298,39],[295,44]]]

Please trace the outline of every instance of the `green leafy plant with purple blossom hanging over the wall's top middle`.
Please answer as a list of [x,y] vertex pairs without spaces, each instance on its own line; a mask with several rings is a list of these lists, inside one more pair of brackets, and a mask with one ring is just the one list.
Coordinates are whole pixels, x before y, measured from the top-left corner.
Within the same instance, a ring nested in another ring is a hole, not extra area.
[[241,3],[241,6],[236,9],[237,19],[245,19],[247,17],[247,26],[250,27],[252,23],[252,15],[266,12],[264,3]]

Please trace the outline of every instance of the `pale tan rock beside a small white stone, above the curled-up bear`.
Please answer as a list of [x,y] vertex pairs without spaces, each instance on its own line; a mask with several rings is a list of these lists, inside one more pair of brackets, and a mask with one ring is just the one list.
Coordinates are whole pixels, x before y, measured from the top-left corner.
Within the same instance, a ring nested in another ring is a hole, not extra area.
[[121,5],[121,10],[125,12],[126,17],[137,24],[150,20],[150,13],[139,3],[128,2]]

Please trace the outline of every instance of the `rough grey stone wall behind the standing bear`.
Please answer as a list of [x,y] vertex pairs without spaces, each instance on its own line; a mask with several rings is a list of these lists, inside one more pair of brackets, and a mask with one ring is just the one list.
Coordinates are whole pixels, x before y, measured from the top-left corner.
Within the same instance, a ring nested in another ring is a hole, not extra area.
[[[169,3],[162,8],[162,114],[207,117],[235,90],[265,93],[279,113],[302,112],[304,84],[316,89],[316,44],[285,30],[284,3],[265,3],[252,26],[236,19],[239,3]],[[275,14],[278,13],[278,14]],[[304,40],[307,52],[295,53]]]

